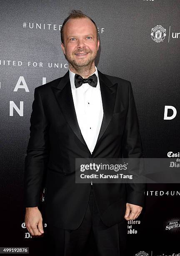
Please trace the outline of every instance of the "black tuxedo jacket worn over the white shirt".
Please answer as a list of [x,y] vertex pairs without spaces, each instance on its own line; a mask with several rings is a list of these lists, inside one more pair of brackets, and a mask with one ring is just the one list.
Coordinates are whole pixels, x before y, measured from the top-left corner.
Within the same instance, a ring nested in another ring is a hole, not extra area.
[[[143,157],[131,83],[99,70],[98,75],[104,115],[92,155],[77,123],[69,71],[35,88],[25,157],[25,206],[39,206],[45,174],[47,223],[63,229],[79,227],[90,195],[90,183],[75,183],[75,158]],[[107,226],[124,219],[126,202],[143,206],[144,184],[93,183],[93,189]]]

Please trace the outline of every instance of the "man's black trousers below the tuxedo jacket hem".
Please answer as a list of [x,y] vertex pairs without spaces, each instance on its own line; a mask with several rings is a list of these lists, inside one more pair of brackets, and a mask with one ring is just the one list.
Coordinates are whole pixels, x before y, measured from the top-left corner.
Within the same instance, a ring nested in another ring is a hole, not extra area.
[[91,186],[87,210],[80,227],[64,230],[47,223],[45,247],[52,256],[125,256],[126,239],[125,219],[111,227],[102,223]]

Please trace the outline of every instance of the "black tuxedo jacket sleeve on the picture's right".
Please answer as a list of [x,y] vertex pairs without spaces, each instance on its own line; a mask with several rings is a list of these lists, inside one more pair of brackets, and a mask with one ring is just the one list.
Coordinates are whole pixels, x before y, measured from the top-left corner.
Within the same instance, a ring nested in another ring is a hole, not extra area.
[[[138,116],[130,82],[128,90],[128,112],[126,115],[125,129],[122,136],[122,155],[123,158],[143,158]],[[127,202],[143,207],[145,184],[126,183],[126,190]]]

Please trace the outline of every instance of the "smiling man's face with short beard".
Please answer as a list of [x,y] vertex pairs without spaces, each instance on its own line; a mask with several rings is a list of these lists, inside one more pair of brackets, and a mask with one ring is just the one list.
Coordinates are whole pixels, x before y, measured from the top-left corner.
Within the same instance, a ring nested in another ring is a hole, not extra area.
[[64,44],[61,48],[73,67],[86,67],[97,55],[99,40],[95,25],[88,18],[70,19],[64,28]]

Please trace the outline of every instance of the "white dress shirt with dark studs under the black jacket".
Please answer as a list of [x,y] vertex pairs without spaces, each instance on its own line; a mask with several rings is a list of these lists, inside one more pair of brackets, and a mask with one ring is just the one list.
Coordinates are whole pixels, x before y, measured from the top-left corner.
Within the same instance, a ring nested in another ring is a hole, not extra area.
[[95,72],[93,74],[96,74],[97,76],[96,87],[92,87],[88,83],[84,83],[80,87],[76,88],[74,82],[75,73],[69,69],[71,91],[77,122],[91,154],[95,148],[103,118],[102,98],[97,67],[95,67]]

